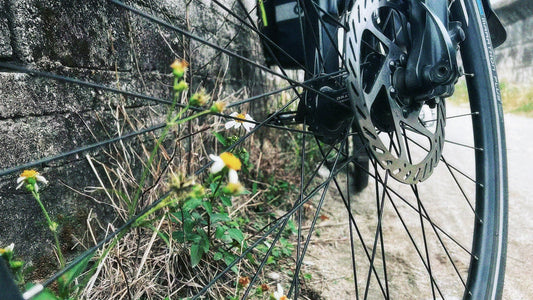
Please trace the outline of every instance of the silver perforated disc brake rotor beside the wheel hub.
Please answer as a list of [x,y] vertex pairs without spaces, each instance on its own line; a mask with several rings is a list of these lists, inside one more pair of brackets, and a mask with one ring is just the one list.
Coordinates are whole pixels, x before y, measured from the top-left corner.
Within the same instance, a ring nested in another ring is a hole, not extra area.
[[414,101],[394,87],[394,72],[405,66],[410,49],[406,7],[397,3],[402,2],[354,5],[346,39],[347,86],[370,153],[392,177],[415,184],[440,160],[445,105],[440,98]]

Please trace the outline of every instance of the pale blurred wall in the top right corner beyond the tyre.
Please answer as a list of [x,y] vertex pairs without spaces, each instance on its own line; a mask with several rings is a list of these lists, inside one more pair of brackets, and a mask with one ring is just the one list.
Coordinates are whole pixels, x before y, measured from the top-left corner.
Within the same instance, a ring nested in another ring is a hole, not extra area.
[[494,4],[507,30],[507,41],[496,49],[498,75],[503,82],[533,82],[533,1],[503,0]]

